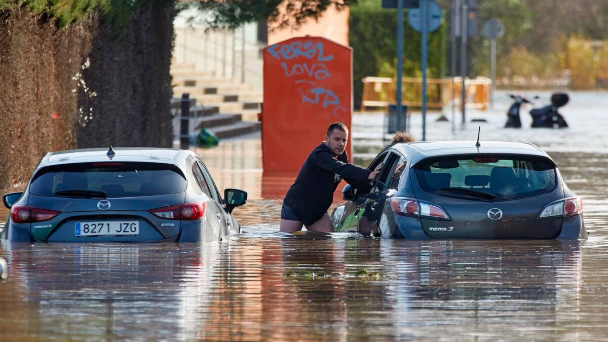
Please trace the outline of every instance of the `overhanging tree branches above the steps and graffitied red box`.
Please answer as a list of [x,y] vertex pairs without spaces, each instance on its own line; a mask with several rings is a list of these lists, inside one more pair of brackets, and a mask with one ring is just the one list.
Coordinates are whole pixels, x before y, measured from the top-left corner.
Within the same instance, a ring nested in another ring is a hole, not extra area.
[[275,29],[297,27],[308,18],[318,19],[330,6],[341,10],[357,0],[198,0],[179,3],[196,7],[201,20],[212,29],[235,29],[244,23],[268,20]]

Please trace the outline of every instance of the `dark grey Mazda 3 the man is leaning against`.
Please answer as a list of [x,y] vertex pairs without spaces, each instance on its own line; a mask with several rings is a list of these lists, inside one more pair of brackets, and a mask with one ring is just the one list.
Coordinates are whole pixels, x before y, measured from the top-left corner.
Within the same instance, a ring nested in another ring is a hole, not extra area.
[[547,153],[520,142],[384,148],[370,189],[344,187],[336,231],[404,239],[585,239],[582,201]]

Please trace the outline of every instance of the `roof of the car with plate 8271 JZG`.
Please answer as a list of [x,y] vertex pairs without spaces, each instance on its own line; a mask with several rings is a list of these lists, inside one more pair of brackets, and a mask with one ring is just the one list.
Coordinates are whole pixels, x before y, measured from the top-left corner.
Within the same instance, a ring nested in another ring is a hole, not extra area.
[[109,148],[106,147],[50,152],[44,156],[38,167],[72,164],[76,162],[103,161],[162,162],[184,167],[188,156],[194,155],[194,153],[189,150],[174,150],[172,148],[116,147],[112,148],[112,150],[115,153],[112,157],[108,156]]

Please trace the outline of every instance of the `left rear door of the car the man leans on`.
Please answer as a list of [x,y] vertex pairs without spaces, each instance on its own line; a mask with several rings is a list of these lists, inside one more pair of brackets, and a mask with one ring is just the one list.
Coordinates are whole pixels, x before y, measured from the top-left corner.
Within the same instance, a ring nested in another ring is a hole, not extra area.
[[[384,158],[384,166],[382,166],[382,170],[372,184],[370,193],[364,195],[358,201],[359,234],[372,236],[379,234],[378,222],[387,200],[387,194],[391,190],[394,191],[398,183],[393,175],[395,175],[395,170],[403,168],[404,163],[405,158],[399,153],[394,151],[387,153],[387,156]],[[370,167],[376,166],[372,165]]]

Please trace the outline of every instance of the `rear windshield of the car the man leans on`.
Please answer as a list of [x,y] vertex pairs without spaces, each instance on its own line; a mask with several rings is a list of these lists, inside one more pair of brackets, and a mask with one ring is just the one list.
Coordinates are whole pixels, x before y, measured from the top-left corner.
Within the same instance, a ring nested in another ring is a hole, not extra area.
[[427,192],[480,200],[545,194],[556,184],[553,162],[534,156],[450,156],[426,159],[415,170]]

